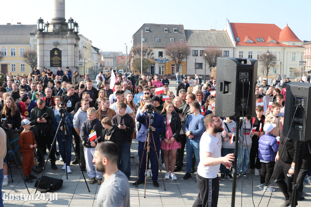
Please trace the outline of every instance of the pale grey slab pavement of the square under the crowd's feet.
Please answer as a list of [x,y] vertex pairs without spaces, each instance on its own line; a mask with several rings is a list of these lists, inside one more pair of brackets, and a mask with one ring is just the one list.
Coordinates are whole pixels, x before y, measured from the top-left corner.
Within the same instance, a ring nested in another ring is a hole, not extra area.
[[[174,91],[175,86],[171,85],[170,90]],[[166,191],[161,180],[161,175],[159,173],[159,187],[155,188],[152,185],[151,178],[147,178],[146,185],[146,198],[144,198],[144,185],[138,187],[132,186],[132,183],[136,181],[136,176],[138,173],[138,154],[137,154],[138,143],[136,140],[132,142],[131,155],[134,159],[131,159],[131,177],[130,182],[130,201],[131,206],[192,206],[194,200],[197,197],[199,189],[197,183],[195,182],[196,173],[192,174],[192,177],[188,180],[183,180],[183,175],[185,173],[185,167],[183,171],[175,173],[177,180],[172,179],[164,180]],[[57,147],[58,149],[58,147]],[[184,165],[186,166],[186,156],[184,157]],[[47,156],[45,156],[47,158]],[[72,153],[72,160],[74,159],[74,153]],[[160,160],[161,162],[161,160]],[[90,184],[87,174],[86,181],[91,192],[88,192],[86,183],[84,182],[82,173],[80,173],[78,165],[71,165],[72,173],[68,174],[68,179],[66,179],[66,172],[61,170],[63,162],[59,161],[57,157],[58,170],[52,170],[50,168],[50,163],[48,162],[47,168],[44,171],[44,175],[49,177],[61,178],[63,179],[63,186],[61,189],[55,191],[53,194],[58,194],[58,199],[49,201],[43,200],[28,200],[28,201],[16,201],[9,200],[4,202],[11,202],[11,204],[4,204],[5,207],[8,206],[96,206],[97,191],[100,185]],[[19,170],[17,168],[12,168],[13,180],[11,180],[11,175],[9,172],[9,185],[2,187],[2,194],[28,194],[24,182],[21,180]],[[41,174],[33,173],[35,176],[40,176]],[[165,176],[165,170],[162,170],[163,177]],[[240,178],[237,183],[236,188],[236,200],[235,206],[267,206],[271,192],[266,192],[263,195],[262,189],[259,189],[259,176],[254,176],[254,173],[247,174],[248,178]],[[251,175],[251,176],[250,176]],[[274,182],[271,184],[274,185]],[[27,184],[30,194],[35,193],[34,183]],[[232,181],[226,179],[220,182],[220,192],[218,199],[218,206],[230,206],[231,203],[231,192],[232,192]],[[243,192],[243,193],[241,193]],[[46,198],[52,193],[47,193]],[[305,207],[310,206],[310,194],[311,185],[304,182],[304,194],[306,198],[303,201],[298,201],[298,206]],[[263,195],[263,197],[262,197]],[[36,198],[35,196],[34,198]],[[21,202],[20,204],[13,204],[13,202]],[[254,202],[254,205],[253,205]],[[272,193],[271,200],[268,206],[281,206],[284,202],[283,193],[276,186],[276,191]]]

